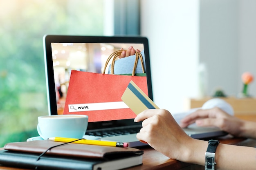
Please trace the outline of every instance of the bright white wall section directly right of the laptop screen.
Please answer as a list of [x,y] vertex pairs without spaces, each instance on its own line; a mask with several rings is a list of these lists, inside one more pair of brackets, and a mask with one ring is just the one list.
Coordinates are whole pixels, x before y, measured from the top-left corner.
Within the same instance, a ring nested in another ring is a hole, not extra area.
[[141,35],[148,37],[153,97],[172,113],[198,94],[198,0],[141,0]]

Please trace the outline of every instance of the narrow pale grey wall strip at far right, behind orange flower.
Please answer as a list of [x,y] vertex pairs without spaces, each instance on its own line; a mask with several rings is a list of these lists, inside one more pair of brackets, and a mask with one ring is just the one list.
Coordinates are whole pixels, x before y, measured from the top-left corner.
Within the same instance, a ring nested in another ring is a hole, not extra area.
[[238,56],[238,91],[242,90],[240,77],[245,71],[254,75],[254,82],[249,85],[249,93],[256,97],[256,0],[239,0],[239,56]]

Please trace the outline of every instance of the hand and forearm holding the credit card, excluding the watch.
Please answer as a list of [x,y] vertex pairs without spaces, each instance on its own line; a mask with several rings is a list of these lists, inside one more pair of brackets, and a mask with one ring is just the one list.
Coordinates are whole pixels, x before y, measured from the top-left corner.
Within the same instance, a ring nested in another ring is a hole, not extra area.
[[[172,159],[204,166],[208,142],[186,135],[167,110],[145,110],[135,118],[138,121],[143,121],[137,134],[140,141]],[[218,169],[252,170],[256,167],[256,148],[219,144],[215,160]]]

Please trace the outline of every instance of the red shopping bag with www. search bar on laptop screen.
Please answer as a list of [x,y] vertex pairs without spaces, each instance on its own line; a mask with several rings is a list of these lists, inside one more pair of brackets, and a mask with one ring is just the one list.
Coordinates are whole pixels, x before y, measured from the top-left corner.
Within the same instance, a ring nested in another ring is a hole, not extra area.
[[63,114],[88,115],[89,122],[135,118],[121,100],[130,81],[148,95],[146,76],[71,72]]

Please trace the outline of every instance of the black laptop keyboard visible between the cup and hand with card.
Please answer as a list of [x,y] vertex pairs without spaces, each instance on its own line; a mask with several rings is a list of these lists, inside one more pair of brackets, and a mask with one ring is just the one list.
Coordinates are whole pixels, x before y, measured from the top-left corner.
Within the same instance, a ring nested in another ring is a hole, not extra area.
[[100,136],[100,137],[110,137],[119,135],[129,135],[132,133],[137,133],[141,127],[129,128],[129,129],[115,129],[115,130],[101,130],[97,132],[86,132],[85,135]]

